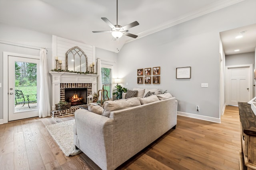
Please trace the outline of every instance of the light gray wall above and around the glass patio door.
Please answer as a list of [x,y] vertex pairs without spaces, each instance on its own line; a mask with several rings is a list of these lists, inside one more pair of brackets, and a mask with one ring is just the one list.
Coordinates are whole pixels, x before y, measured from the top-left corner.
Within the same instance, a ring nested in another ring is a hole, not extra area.
[[[5,40],[5,41],[1,41]],[[3,78],[3,52],[10,53],[21,53],[27,55],[40,56],[40,50],[30,49],[24,47],[17,47],[13,45],[8,45],[8,42],[12,41],[27,45],[33,45],[38,47],[46,47],[48,49],[48,70],[50,70],[52,63],[52,35],[46,35],[44,33],[39,33],[36,31],[31,31],[28,29],[22,29],[19,27],[13,27],[10,25],[4,25],[0,23],[0,83],[3,84],[4,81],[8,81],[8,78]],[[6,44],[4,44],[6,43]],[[28,46],[27,46],[28,47]],[[33,48],[33,47],[32,47]],[[50,80],[50,79],[49,79]],[[0,88],[0,120],[3,119],[3,86]]]

